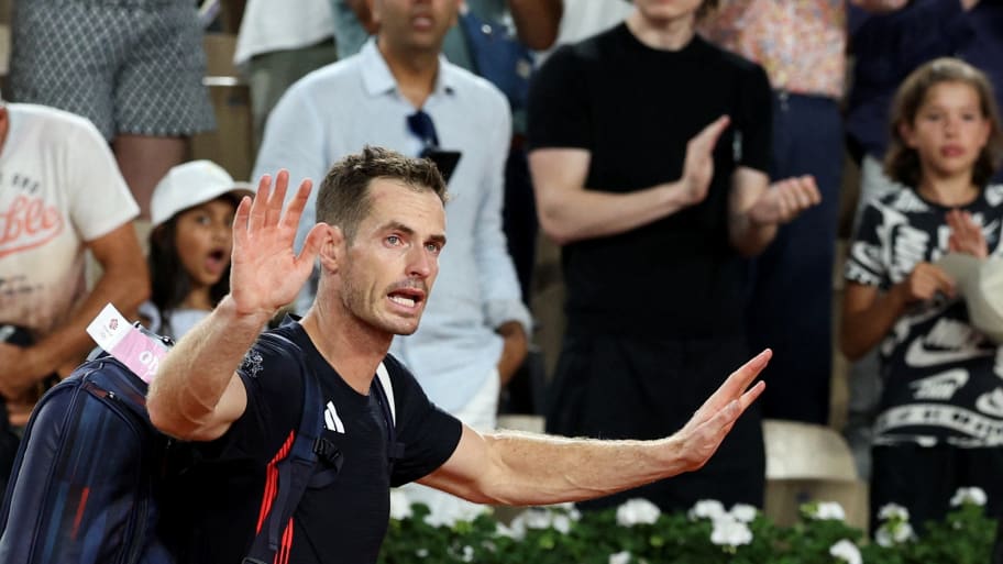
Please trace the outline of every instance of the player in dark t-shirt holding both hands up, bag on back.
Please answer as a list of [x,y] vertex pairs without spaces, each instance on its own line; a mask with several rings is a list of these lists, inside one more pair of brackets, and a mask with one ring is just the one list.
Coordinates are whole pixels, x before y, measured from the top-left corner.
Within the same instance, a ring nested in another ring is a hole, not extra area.
[[[343,464],[337,480],[309,489],[296,509],[288,553],[294,564],[375,562],[390,485],[419,480],[477,502],[553,504],[693,471],[764,387],[746,391],[769,351],[739,368],[679,432],[658,441],[478,434],[432,406],[414,376],[387,356],[395,334],[418,328],[445,243],[445,185],[434,166],[372,147],[345,157],[321,186],[321,221],[299,256],[293,240],[310,181],[283,214],[288,181],[280,172],[273,190],[265,176],[253,203],[241,202],[231,294],[167,354],[150,390],[155,425],[206,442],[190,478],[203,494],[190,512],[199,552],[186,562],[238,562],[253,537],[257,504],[269,500],[263,495],[267,468],[297,427],[302,376],[255,340],[296,297],[317,258],[313,306],[300,322],[277,331],[298,345],[322,381],[323,433],[341,450]],[[392,469],[387,419],[371,394],[381,362],[393,383],[400,443]]]

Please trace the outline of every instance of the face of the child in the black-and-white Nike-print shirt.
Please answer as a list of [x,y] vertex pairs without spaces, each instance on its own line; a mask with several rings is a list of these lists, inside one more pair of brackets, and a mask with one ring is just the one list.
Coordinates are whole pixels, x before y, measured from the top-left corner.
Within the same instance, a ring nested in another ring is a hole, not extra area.
[[971,174],[991,131],[980,102],[979,91],[966,82],[938,82],[926,92],[913,123],[900,129],[919,154],[924,176]]

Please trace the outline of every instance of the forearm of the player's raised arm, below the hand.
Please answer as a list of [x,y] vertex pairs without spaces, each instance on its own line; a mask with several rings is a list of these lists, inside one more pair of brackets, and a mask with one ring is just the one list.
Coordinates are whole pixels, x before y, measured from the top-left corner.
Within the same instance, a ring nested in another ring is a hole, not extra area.
[[230,296],[164,357],[146,406],[162,431],[188,439],[209,422],[268,319],[240,314]]

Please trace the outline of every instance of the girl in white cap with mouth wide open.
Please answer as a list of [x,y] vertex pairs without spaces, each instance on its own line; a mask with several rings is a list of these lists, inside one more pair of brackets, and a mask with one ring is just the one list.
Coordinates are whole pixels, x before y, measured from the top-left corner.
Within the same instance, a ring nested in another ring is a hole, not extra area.
[[254,196],[210,161],[167,173],[153,191],[150,275],[153,291],[140,308],[146,325],[175,340],[201,321],[230,291],[233,214]]

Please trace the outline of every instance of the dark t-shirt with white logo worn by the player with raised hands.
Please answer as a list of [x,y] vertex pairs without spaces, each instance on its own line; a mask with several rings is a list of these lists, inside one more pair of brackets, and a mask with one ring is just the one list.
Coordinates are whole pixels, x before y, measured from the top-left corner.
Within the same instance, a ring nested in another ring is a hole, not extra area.
[[[389,519],[389,487],[441,466],[460,441],[460,422],[434,407],[415,377],[393,356],[384,361],[394,388],[397,442],[404,455],[389,474],[385,417],[375,389],[363,396],[323,360],[299,323],[276,331],[302,351],[321,383],[324,436],[342,453],[334,483],[308,489],[294,515],[290,564],[376,562]],[[194,535],[186,563],[239,564],[254,537],[269,462],[299,427],[300,364],[256,344],[239,374],[247,408],[221,439],[199,445],[200,460],[185,483]],[[375,386],[375,384],[374,384]],[[192,495],[194,491],[194,495]]]

